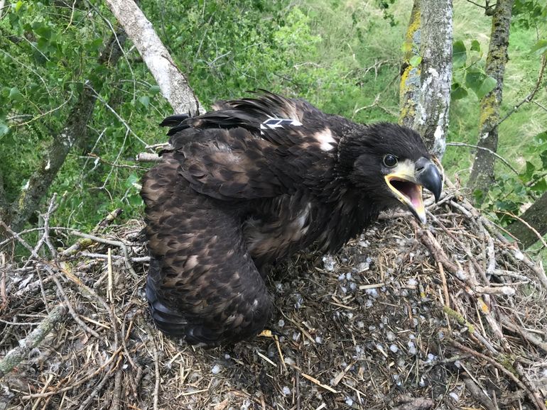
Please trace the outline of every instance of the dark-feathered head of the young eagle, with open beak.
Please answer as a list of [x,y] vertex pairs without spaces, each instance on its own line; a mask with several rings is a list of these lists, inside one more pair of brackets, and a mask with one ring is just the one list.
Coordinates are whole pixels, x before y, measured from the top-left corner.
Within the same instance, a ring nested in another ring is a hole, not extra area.
[[379,210],[402,204],[426,222],[422,188],[438,201],[443,182],[418,133],[393,123],[364,126],[342,138],[338,153],[345,177]]

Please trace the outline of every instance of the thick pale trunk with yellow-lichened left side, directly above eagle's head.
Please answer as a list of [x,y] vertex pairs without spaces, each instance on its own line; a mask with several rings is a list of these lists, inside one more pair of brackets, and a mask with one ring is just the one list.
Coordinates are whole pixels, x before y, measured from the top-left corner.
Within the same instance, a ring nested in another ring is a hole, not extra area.
[[[415,0],[406,33],[400,122],[439,159],[446,149],[452,84],[452,0]],[[420,50],[419,67],[411,58]]]

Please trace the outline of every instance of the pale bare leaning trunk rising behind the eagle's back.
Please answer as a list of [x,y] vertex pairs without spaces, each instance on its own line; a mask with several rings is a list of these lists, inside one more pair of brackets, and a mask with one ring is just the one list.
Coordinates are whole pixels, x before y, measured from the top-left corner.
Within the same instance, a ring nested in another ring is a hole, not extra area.
[[205,113],[188,79],[169,55],[166,47],[133,0],[106,0],[109,8],[141,53],[148,70],[156,79],[161,94],[169,101],[175,113],[196,115]]

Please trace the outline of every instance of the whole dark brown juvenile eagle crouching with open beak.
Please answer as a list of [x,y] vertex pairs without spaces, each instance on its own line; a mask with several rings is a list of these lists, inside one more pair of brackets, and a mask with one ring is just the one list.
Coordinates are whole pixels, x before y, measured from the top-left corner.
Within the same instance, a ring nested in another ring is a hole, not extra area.
[[416,132],[364,126],[265,93],[170,116],[171,147],[146,172],[146,295],[158,328],[188,343],[249,338],[269,321],[264,267],[335,252],[384,209],[426,221],[441,179]]

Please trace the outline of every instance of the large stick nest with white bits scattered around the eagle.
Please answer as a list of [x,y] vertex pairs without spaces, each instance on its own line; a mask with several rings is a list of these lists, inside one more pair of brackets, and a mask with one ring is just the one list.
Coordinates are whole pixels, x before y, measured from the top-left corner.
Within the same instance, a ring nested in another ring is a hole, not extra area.
[[210,350],[154,328],[140,221],[58,251],[54,209],[36,243],[4,226],[0,409],[546,409],[543,268],[454,187],[275,267],[284,336]]

